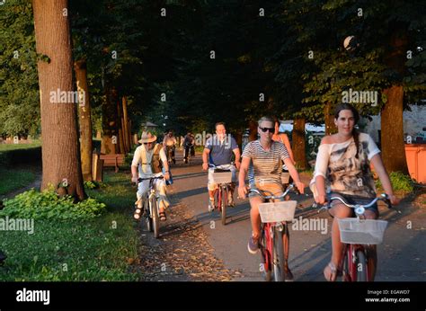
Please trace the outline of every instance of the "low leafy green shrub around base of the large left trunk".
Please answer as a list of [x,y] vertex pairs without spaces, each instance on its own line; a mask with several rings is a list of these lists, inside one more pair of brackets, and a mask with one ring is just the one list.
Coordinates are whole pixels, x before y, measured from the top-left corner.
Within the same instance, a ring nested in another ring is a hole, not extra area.
[[74,203],[71,196],[59,197],[53,186],[45,191],[25,191],[15,198],[4,200],[0,217],[33,219],[84,219],[102,214],[105,204],[94,199]]

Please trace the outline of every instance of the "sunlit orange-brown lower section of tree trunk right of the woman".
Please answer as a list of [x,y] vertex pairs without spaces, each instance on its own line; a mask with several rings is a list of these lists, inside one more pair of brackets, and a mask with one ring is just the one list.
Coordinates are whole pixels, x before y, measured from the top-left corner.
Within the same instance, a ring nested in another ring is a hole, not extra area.
[[387,102],[382,110],[380,131],[383,164],[388,173],[397,171],[408,173],[404,145],[403,86],[393,85],[384,93]]

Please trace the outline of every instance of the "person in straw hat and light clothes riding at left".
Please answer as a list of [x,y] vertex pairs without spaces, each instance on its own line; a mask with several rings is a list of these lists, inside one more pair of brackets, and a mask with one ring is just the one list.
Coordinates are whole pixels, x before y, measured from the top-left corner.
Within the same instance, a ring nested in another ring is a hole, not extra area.
[[[133,161],[131,163],[132,182],[138,183],[138,178],[158,177],[163,175],[162,168],[164,166],[164,179],[170,179],[169,164],[164,153],[164,148],[156,143],[156,136],[150,132],[144,132],[142,138],[138,141],[141,146],[135,150]],[[149,180],[139,182],[138,184],[138,206],[135,211],[135,218],[140,217],[142,209],[142,200],[146,197],[149,190]],[[159,217],[160,220],[166,220],[164,209],[170,206],[165,191],[165,182],[163,179],[155,180],[155,191],[159,192]]]

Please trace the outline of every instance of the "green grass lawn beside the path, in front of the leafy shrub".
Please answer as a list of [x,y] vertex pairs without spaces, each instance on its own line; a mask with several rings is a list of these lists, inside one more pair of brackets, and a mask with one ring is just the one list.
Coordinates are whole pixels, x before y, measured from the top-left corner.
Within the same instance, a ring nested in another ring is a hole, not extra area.
[[140,280],[131,262],[139,237],[131,217],[136,188],[129,173],[105,172],[105,187],[87,191],[108,206],[106,214],[84,221],[34,221],[34,233],[0,231],[8,255],[0,280]]

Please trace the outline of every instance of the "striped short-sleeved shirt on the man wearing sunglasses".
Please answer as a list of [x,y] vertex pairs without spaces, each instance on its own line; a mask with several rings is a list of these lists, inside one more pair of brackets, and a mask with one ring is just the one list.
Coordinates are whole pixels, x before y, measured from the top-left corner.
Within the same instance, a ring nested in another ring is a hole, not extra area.
[[249,167],[249,183],[278,183],[281,184],[282,162],[289,157],[287,148],[278,141],[271,142],[271,149],[263,149],[260,140],[249,142],[243,155],[252,161]]

